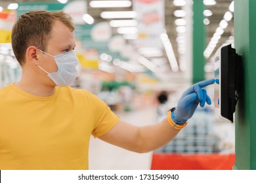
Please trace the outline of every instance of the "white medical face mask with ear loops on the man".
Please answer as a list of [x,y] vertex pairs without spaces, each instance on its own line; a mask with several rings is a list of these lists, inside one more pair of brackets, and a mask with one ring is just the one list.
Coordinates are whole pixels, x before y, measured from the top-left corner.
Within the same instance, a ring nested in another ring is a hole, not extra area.
[[[40,50],[43,52],[42,50]],[[47,54],[46,52],[43,52],[44,54]],[[53,80],[53,82],[57,86],[70,86],[73,84],[75,78],[78,75],[78,71],[75,68],[78,63],[78,58],[72,50],[71,52],[66,52],[64,54],[59,54],[58,56],[52,56],[50,54],[47,54],[54,58],[56,64],[58,65],[58,71],[55,73],[48,73],[37,65],[41,70],[45,71],[45,73],[48,74],[49,78]]]

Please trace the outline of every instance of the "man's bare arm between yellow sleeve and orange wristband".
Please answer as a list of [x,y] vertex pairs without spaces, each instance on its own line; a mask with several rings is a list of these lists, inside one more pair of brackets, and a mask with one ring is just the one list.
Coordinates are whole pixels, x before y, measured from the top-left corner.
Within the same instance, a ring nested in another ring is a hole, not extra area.
[[150,152],[171,141],[180,130],[173,129],[167,118],[154,125],[138,127],[120,120],[108,133],[99,137],[133,152]]

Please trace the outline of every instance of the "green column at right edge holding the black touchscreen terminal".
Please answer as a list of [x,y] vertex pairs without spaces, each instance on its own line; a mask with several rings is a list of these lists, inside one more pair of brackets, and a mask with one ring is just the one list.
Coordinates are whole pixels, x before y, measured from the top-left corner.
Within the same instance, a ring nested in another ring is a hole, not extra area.
[[234,1],[235,48],[243,57],[244,94],[236,107],[236,163],[256,169],[256,1]]

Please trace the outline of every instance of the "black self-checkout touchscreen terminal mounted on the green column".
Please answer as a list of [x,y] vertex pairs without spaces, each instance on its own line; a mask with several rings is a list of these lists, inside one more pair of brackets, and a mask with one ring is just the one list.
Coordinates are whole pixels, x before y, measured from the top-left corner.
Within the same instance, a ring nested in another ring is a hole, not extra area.
[[234,122],[236,103],[242,96],[243,76],[242,56],[236,54],[231,44],[221,46],[215,54],[215,79],[219,79],[215,108],[219,107],[220,116],[230,122]]

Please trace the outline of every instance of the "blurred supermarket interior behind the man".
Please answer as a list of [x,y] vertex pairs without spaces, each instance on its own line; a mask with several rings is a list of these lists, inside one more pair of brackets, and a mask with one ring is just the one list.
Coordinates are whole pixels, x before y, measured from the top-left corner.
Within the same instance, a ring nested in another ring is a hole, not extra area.
[[[193,46],[203,48],[200,72],[208,79],[214,78],[217,49],[234,42],[234,1],[201,4],[204,31],[197,45],[192,0],[0,0],[0,88],[20,78],[11,48],[18,16],[64,10],[75,23],[79,76],[73,87],[94,93],[127,122],[157,123],[195,81]],[[213,105],[198,108],[187,127],[155,152],[135,154],[92,138],[90,169],[232,169],[234,124],[219,116],[217,87],[207,88]]]

